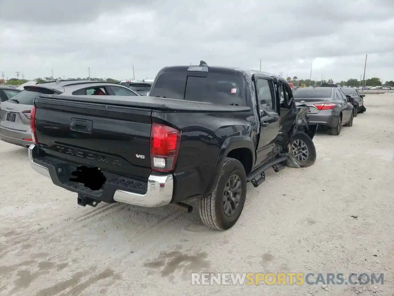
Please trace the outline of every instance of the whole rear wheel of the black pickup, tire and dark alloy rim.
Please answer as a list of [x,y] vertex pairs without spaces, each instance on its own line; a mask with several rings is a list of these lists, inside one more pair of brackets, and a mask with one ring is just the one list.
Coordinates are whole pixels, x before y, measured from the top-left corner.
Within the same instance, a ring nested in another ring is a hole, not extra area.
[[242,163],[227,157],[214,191],[199,199],[201,221],[214,230],[227,230],[234,226],[245,204],[246,185]]

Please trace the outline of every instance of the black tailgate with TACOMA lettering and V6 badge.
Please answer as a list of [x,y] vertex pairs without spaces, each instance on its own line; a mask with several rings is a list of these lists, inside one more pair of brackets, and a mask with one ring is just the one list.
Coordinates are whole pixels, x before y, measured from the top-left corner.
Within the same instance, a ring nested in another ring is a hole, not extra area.
[[35,99],[36,135],[48,156],[148,178],[151,109]]

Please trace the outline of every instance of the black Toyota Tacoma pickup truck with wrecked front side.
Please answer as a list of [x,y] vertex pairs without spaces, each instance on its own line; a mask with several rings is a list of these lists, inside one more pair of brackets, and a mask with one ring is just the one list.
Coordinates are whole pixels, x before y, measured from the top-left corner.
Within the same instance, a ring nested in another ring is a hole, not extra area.
[[316,159],[307,106],[288,83],[247,69],[165,67],[150,96],[35,98],[33,169],[78,193],[78,204],[145,207],[197,198],[203,223],[227,230],[241,215],[247,182]]

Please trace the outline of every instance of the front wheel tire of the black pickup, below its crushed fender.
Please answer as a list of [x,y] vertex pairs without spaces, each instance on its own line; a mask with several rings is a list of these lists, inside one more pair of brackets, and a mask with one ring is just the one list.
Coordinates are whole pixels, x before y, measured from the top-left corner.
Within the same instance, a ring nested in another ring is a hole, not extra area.
[[[305,146],[303,146],[303,144]],[[295,149],[295,146],[301,146]],[[301,149],[300,149],[301,148]],[[305,150],[305,148],[307,150]],[[296,152],[299,151],[301,155],[296,155]],[[305,153],[307,152],[307,153]],[[290,155],[290,159],[286,159],[286,165],[288,167],[309,167],[313,165],[316,161],[316,148],[312,139],[304,133],[303,131],[296,131],[294,137],[288,144],[288,154]],[[303,159],[303,157],[306,157]]]

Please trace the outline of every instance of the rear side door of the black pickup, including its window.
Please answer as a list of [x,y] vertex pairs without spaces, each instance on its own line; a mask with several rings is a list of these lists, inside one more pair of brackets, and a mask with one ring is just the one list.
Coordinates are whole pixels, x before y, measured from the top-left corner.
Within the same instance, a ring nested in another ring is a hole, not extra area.
[[271,156],[275,140],[279,134],[279,112],[277,110],[273,80],[254,75],[258,112],[260,116],[260,135],[256,148],[256,167]]

